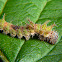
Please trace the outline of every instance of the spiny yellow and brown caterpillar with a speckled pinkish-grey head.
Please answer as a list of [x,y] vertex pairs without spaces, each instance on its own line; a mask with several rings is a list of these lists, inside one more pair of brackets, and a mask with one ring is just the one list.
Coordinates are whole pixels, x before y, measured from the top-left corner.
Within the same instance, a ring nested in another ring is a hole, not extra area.
[[47,23],[50,21],[46,21],[42,25],[35,24],[29,19],[28,21],[29,24],[26,23],[26,26],[16,26],[6,22],[4,15],[3,18],[0,19],[0,31],[3,31],[4,34],[10,33],[12,37],[17,35],[19,39],[24,36],[26,40],[29,40],[31,36],[33,37],[36,34],[41,41],[46,41],[50,44],[55,44],[57,42],[58,33],[52,30],[56,24],[47,26]]

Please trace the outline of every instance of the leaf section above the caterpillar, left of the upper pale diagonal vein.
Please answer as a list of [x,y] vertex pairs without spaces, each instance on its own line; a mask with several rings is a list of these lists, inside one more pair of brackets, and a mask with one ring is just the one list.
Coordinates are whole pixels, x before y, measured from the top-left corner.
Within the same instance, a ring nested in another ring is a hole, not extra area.
[[9,0],[4,9],[6,21],[20,25],[27,18],[36,22],[47,0]]

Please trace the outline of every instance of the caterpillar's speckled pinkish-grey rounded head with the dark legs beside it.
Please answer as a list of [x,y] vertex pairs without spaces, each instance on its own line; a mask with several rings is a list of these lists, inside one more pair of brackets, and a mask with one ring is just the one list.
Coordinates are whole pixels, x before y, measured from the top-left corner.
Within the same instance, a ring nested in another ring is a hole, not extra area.
[[58,33],[55,31],[51,31],[48,36],[44,37],[43,35],[39,35],[41,41],[49,42],[50,44],[55,44],[58,39]]

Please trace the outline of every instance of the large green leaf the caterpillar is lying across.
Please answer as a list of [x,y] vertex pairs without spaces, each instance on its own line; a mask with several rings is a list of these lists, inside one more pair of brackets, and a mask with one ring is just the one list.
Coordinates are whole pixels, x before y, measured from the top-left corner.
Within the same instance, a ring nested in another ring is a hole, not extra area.
[[15,25],[27,22],[27,18],[40,24],[51,20],[48,25],[55,22],[57,26],[53,30],[56,30],[59,35],[58,42],[51,45],[38,38],[24,42],[24,40],[0,34],[0,50],[10,62],[35,62],[47,56],[59,44],[62,36],[62,0],[8,0],[3,13],[6,14],[6,21]]

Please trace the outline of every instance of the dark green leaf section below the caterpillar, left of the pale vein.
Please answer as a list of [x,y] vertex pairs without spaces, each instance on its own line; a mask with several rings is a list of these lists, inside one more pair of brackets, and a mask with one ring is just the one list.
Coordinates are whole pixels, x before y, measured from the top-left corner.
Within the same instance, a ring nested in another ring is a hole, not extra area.
[[0,33],[0,50],[9,61],[14,62],[23,43],[24,40],[12,38]]

